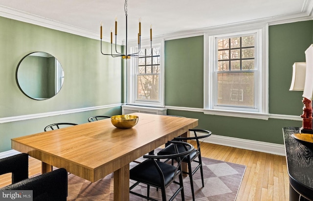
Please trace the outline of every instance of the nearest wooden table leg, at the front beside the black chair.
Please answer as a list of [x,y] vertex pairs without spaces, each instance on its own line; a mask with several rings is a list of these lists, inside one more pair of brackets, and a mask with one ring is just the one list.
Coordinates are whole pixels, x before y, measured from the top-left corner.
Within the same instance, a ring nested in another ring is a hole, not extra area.
[[114,171],[114,201],[129,201],[129,164]]

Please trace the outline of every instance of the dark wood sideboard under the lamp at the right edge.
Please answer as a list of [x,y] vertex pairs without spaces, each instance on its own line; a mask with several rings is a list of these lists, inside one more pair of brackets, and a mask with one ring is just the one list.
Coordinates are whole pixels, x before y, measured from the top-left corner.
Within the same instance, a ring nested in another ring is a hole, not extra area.
[[291,134],[297,133],[299,127],[283,128],[290,201],[313,201],[313,153],[293,139]]

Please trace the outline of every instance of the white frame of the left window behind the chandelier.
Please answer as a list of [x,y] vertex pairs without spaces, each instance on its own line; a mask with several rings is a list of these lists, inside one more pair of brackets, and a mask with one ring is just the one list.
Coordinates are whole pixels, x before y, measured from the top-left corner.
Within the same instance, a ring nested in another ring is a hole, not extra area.
[[[138,47],[136,43],[130,44],[129,52],[135,52]],[[159,73],[159,94],[158,101],[137,100],[137,58],[132,57],[127,60],[126,66],[126,104],[146,107],[164,108],[164,40],[154,40],[152,47],[160,47],[160,73]],[[142,41],[141,49],[150,48],[150,41]]]

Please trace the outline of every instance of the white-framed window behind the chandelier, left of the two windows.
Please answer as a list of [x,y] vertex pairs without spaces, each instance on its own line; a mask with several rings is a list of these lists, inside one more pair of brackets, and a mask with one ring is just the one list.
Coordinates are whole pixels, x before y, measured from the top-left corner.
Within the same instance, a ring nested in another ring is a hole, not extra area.
[[[138,52],[138,47],[131,48]],[[141,46],[138,57],[132,57],[127,69],[127,103],[163,107],[163,70],[161,45]]]

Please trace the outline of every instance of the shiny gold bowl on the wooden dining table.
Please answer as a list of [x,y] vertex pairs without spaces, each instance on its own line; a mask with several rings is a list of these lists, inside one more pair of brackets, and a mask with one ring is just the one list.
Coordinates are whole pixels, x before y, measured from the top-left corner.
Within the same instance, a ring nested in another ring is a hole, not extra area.
[[119,129],[130,129],[138,123],[138,116],[129,114],[115,115],[111,117],[111,123]]

